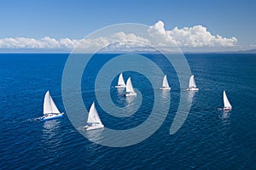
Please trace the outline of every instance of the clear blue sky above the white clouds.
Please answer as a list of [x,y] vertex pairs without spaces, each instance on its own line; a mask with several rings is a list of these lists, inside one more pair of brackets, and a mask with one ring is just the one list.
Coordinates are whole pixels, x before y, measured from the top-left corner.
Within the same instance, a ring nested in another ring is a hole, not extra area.
[[[256,1],[2,1],[0,38],[83,38],[103,26],[162,20],[166,30],[204,26],[212,35],[236,37],[236,48],[256,44]],[[256,46],[255,46],[256,48]]]

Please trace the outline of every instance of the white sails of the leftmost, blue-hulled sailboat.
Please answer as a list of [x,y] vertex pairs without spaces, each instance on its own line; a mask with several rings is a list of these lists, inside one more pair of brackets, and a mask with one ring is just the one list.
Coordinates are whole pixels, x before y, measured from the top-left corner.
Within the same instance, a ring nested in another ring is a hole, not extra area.
[[44,96],[44,114],[49,114],[49,113],[61,113],[61,112],[58,110],[54,100],[49,95],[49,91],[47,91]]

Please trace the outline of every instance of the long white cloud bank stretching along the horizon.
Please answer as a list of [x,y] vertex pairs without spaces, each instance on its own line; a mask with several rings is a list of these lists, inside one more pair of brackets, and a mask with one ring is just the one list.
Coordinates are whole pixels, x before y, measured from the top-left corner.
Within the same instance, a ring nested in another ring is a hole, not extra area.
[[205,48],[205,47],[234,47],[236,37],[222,37],[212,35],[207,27],[193,26],[177,27],[166,30],[164,23],[158,21],[154,26],[149,26],[148,37],[139,37],[136,33],[125,34],[122,31],[108,37],[96,37],[93,39],[70,39],[61,38],[56,40],[52,37],[41,39],[27,37],[0,38],[0,48],[62,48],[73,49],[77,46],[86,49],[105,48],[115,50],[120,48],[143,48],[143,44],[150,44],[156,48]]

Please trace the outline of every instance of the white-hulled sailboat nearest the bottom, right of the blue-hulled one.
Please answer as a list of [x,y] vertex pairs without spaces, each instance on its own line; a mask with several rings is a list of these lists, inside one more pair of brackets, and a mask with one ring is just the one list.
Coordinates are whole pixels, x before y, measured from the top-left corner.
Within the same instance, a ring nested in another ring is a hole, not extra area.
[[103,128],[104,125],[100,119],[98,112],[96,111],[95,103],[90,106],[90,111],[87,118],[87,123],[84,126],[85,130],[93,130],[97,128]]

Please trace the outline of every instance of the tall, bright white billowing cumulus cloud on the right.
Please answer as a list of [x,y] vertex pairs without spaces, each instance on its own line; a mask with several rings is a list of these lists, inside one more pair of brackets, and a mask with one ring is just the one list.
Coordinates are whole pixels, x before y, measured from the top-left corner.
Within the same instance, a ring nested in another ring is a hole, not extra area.
[[158,21],[154,26],[150,26],[148,34],[154,37],[155,43],[160,46],[168,46],[176,43],[179,47],[233,47],[236,45],[236,37],[213,36],[204,26],[177,27],[168,31],[162,21]]

